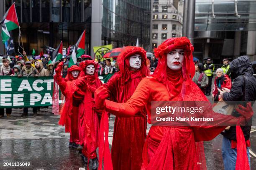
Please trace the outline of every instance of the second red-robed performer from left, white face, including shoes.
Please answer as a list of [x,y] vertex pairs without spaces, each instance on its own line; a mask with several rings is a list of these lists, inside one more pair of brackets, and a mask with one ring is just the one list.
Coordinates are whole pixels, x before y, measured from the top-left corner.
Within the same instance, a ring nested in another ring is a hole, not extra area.
[[102,85],[98,78],[98,63],[95,60],[85,60],[79,65],[81,73],[75,80],[73,104],[79,107],[79,136],[83,145],[82,160],[88,165],[92,159],[92,170],[97,170],[98,132],[101,110],[95,106],[94,92]]

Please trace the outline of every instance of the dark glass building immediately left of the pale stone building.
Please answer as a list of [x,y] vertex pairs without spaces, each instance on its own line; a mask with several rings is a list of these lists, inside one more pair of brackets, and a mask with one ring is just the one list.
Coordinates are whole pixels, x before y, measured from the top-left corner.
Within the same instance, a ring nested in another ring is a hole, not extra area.
[[102,0],[102,44],[150,46],[151,0]]

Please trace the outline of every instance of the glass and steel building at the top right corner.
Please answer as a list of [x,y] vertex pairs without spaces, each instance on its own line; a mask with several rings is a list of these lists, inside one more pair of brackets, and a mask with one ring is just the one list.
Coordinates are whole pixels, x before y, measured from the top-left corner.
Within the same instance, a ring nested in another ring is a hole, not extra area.
[[195,52],[222,64],[224,57],[256,60],[256,0],[196,0]]

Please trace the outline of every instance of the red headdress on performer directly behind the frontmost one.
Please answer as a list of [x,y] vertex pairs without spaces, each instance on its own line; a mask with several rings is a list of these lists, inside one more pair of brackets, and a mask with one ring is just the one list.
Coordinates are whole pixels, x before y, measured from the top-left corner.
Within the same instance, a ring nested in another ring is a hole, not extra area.
[[142,47],[126,46],[126,47],[123,47],[117,59],[119,70],[120,70],[119,80],[122,83],[128,81],[131,77],[129,59],[134,54],[141,55],[141,67],[139,69],[141,72],[141,76],[146,77],[148,75],[147,63],[146,63],[146,60],[147,60],[146,50],[144,50]]

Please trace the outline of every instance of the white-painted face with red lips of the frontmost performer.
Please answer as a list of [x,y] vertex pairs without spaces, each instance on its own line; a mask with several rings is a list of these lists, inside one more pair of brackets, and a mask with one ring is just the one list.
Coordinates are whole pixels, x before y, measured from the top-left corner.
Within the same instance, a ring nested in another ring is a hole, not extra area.
[[167,66],[172,70],[179,70],[182,67],[184,50],[175,49],[167,54]]

